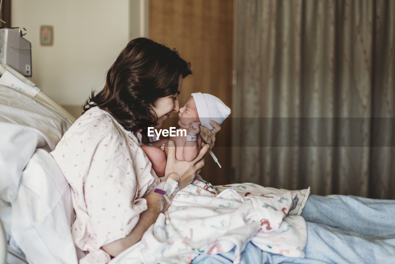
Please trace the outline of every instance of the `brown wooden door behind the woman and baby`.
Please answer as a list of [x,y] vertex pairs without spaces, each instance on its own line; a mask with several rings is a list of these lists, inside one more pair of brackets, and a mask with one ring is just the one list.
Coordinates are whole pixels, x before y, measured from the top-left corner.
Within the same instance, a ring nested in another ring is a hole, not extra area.
[[[150,0],[149,37],[176,48],[190,61],[193,76],[184,80],[182,106],[191,93],[210,93],[231,108],[233,0]],[[173,113],[165,126],[177,127]],[[231,116],[222,123],[201,175],[214,185],[231,182]]]

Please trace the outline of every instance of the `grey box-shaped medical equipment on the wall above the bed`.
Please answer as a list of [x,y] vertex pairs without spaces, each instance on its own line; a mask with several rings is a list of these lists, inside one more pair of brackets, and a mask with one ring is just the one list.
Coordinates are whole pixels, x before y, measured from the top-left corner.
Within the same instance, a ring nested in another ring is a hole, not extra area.
[[21,28],[0,28],[0,63],[7,64],[25,77],[32,76],[32,45],[23,38]]

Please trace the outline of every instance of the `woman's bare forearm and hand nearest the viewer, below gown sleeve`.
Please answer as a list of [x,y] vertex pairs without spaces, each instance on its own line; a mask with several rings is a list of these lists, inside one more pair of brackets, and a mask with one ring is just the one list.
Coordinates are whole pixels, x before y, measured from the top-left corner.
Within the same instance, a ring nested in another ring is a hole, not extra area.
[[[179,188],[185,187],[187,184],[190,184],[192,180],[198,175],[201,171],[201,168],[204,165],[204,154],[209,149],[209,146],[203,147],[198,157],[193,161],[178,161],[175,158],[175,146],[173,141],[169,141],[169,153],[167,156],[167,164],[165,175],[169,175],[171,172],[176,172],[180,175],[179,180]],[[175,179],[175,175],[169,175],[173,180]],[[164,199],[163,210],[160,212],[159,201],[161,195],[154,192],[153,190],[145,196],[147,199],[147,210],[140,214],[139,221],[137,222],[136,226],[133,230],[124,238],[118,239],[113,241],[107,245],[102,246],[102,249],[110,254],[111,256],[117,256],[119,253],[131,247],[135,243],[137,243],[147,229],[156,221],[158,218],[159,213],[163,213],[169,207],[167,204],[166,199]]]

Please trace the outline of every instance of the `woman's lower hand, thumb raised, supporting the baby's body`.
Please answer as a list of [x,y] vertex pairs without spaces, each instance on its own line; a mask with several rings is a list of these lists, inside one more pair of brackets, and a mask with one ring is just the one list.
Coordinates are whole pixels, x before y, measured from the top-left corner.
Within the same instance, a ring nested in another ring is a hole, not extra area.
[[[175,158],[175,145],[173,141],[168,143],[167,163],[165,169],[165,175],[171,172],[175,172],[180,176],[178,182],[179,188],[184,188],[190,184],[195,176],[201,171],[204,165],[204,154],[209,150],[209,145],[205,145],[201,148],[198,156],[192,161],[179,161]],[[173,180],[177,180],[175,175],[169,175]]]

